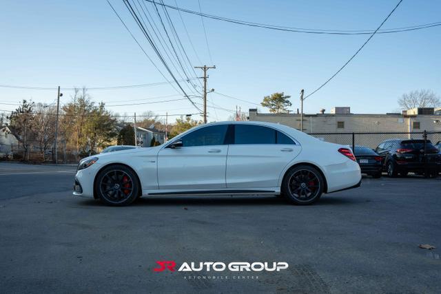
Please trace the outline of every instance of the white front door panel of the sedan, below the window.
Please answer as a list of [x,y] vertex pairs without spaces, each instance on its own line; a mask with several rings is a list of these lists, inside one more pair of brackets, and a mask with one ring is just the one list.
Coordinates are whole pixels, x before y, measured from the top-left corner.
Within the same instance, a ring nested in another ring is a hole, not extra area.
[[159,189],[226,188],[228,145],[165,148],[158,153]]

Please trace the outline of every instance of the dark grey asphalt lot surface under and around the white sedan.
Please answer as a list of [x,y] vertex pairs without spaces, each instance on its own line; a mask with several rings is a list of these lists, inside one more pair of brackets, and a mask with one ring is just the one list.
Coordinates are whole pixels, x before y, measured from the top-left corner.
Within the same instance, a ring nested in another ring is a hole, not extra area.
[[[105,207],[71,195],[74,170],[0,163],[1,292],[441,293],[441,178],[363,178],[308,207],[269,196]],[[161,260],[289,268],[154,272]]]

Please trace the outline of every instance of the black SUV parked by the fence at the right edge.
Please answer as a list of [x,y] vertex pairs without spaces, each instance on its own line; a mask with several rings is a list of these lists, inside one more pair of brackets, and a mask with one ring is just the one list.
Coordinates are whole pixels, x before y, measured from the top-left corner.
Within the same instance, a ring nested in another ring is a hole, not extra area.
[[[387,175],[390,177],[407,176],[409,171],[424,176],[438,176],[441,170],[441,154],[430,140],[386,140],[376,148],[382,156]],[[425,154],[425,156],[424,156]]]

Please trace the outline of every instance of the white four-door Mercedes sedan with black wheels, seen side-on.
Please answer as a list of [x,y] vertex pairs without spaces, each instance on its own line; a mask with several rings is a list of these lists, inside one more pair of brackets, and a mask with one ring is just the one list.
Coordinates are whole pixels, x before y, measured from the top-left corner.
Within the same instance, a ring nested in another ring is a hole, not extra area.
[[123,206],[141,196],[277,195],[295,204],[359,187],[347,146],[285,125],[199,125],[150,148],[99,154],[79,162],[74,195]]

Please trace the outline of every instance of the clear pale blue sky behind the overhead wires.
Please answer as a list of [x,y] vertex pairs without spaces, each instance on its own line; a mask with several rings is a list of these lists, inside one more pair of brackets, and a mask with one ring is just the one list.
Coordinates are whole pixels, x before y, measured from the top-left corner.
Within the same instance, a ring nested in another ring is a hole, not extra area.
[[[181,8],[198,10],[197,0],[177,0]],[[378,1],[214,1],[201,0],[203,12],[300,28],[374,30],[396,6],[396,0]],[[115,9],[145,50],[165,72],[141,31],[123,5]],[[165,0],[175,6],[174,0]],[[153,10],[152,10],[153,12]],[[212,65],[201,18],[183,13],[198,58]],[[404,0],[383,28],[397,28],[441,21],[441,1]],[[170,10],[189,59],[198,64],[177,12]],[[159,23],[158,23],[159,25]],[[349,59],[368,36],[332,36],[276,32],[205,19],[209,49],[216,70],[209,70],[209,88],[260,103],[273,92],[291,95],[313,91]],[[134,85],[163,82],[164,78],[145,57],[105,0],[12,1],[0,9],[0,84],[39,87]],[[305,101],[306,113],[327,112],[334,106],[350,106],[354,113],[398,111],[398,97],[410,90],[431,89],[441,94],[441,27],[380,34],[333,81]],[[200,72],[198,72],[199,74]],[[168,76],[167,76],[168,78]],[[68,101],[71,92],[65,94]],[[95,101],[107,105],[177,99],[157,98],[176,94],[170,85],[130,90],[91,91]],[[0,103],[19,103],[22,98],[52,103],[55,91],[16,90],[0,87]],[[196,100],[197,101],[197,100]],[[214,104],[212,104],[214,103]],[[209,105],[234,110],[256,105],[209,94]],[[14,109],[0,104],[0,109]],[[132,114],[194,113],[188,101],[109,107]],[[259,107],[261,112],[267,109]],[[209,109],[209,120],[225,120],[232,113]],[[199,118],[196,116],[195,118]]]

